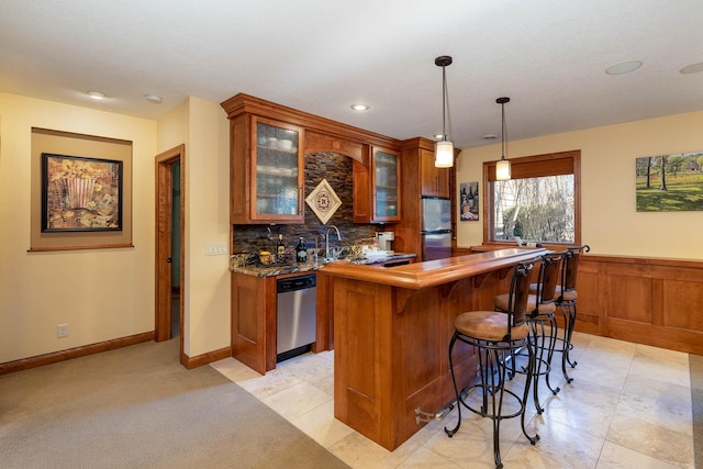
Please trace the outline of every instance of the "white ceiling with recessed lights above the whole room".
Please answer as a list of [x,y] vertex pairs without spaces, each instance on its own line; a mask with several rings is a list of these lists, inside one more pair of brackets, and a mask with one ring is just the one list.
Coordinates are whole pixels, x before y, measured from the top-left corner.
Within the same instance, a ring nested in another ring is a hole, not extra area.
[[[703,71],[702,19],[701,0],[0,0],[0,91],[147,119],[244,92],[433,137],[450,55],[447,133],[467,148],[500,138],[503,96],[507,139],[703,109],[703,72],[679,71]],[[605,74],[627,60],[644,65]]]

